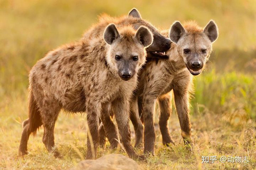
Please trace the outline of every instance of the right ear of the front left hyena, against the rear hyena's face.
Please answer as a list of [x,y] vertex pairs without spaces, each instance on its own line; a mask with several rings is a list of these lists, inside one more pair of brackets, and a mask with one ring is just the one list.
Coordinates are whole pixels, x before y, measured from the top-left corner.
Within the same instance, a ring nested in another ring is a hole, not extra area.
[[146,27],[143,27],[143,26],[139,27],[135,37],[145,47],[151,45],[153,42],[153,36],[152,36],[151,31],[149,31],[149,29],[147,29]]

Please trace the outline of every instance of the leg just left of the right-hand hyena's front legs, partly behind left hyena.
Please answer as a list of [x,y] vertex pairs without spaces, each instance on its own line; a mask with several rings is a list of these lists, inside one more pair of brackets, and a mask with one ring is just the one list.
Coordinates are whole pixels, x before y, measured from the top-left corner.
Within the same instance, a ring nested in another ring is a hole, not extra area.
[[130,119],[135,131],[135,145],[134,147],[142,146],[144,127],[138,113],[138,101],[134,99],[131,102]]

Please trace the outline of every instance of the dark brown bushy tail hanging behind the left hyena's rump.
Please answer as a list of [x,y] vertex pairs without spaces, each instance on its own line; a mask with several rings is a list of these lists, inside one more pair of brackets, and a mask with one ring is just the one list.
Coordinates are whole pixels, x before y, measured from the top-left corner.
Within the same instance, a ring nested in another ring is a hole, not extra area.
[[29,130],[35,136],[37,129],[39,129],[39,127],[42,125],[42,118],[37,103],[35,101],[35,97],[31,91],[29,93],[28,116],[29,119],[25,120],[23,122],[23,125],[29,123]]

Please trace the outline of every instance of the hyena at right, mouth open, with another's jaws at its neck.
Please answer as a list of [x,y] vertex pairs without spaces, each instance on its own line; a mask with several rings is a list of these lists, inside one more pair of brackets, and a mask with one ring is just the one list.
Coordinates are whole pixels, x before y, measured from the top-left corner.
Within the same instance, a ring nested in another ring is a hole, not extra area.
[[[163,34],[168,36],[168,31],[163,31]],[[151,59],[145,65],[139,75],[138,90],[135,92],[130,111],[131,117],[135,117],[135,119],[131,119],[133,124],[140,124],[140,120],[137,118],[138,112],[134,108],[138,108],[139,115],[143,116],[144,153],[154,154],[156,138],[154,108],[157,100],[160,108],[159,127],[163,144],[173,143],[168,130],[168,119],[171,114],[171,90],[174,93],[184,143],[191,143],[189,93],[192,86],[192,75],[196,76],[202,72],[211,54],[212,43],[217,38],[218,29],[213,21],[210,21],[204,29],[197,26],[195,22],[188,22],[184,27],[180,22],[175,22],[170,30],[170,39],[174,43],[171,44],[171,48],[167,52],[169,59]],[[105,122],[102,123],[105,124]],[[136,141],[142,141],[143,127],[135,128],[135,131],[137,131],[136,137],[140,137]],[[116,132],[112,132],[112,136],[115,134]]]

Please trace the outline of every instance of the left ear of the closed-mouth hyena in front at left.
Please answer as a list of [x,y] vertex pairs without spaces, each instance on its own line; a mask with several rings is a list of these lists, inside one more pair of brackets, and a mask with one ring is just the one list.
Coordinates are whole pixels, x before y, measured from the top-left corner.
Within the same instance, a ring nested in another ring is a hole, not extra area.
[[104,31],[104,40],[106,43],[111,45],[115,39],[119,37],[118,30],[115,26],[115,24],[109,24],[107,28]]

